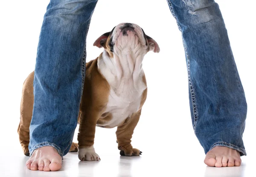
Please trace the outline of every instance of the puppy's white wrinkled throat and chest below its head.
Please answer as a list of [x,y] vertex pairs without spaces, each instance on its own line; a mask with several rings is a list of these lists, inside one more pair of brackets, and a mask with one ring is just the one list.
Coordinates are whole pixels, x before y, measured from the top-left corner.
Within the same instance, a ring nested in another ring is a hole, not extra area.
[[[98,68],[110,85],[108,103],[98,126],[113,128],[140,109],[141,98],[147,88],[143,78],[142,56],[114,56],[103,51]],[[105,115],[110,115],[108,118]]]

